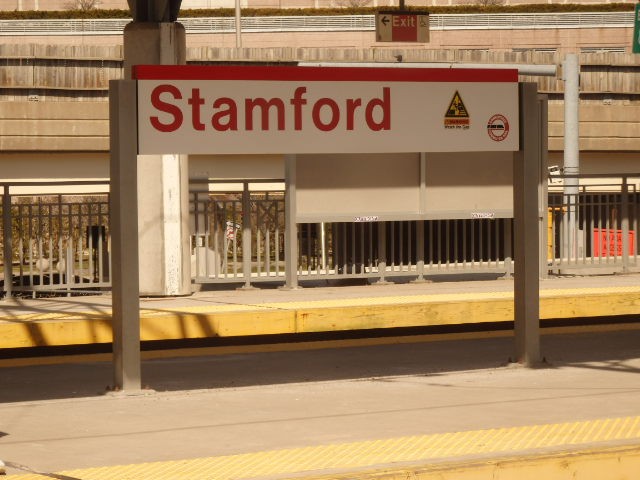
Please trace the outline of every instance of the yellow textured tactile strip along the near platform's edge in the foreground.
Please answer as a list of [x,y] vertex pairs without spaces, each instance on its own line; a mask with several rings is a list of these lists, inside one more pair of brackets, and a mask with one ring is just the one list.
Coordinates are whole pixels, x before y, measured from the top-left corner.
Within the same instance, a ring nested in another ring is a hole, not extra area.
[[[562,449],[575,450],[587,444],[635,440],[640,442],[640,417],[622,417],[408,436],[222,457],[86,468],[51,475],[9,475],[7,480],[42,480],[46,478],[235,480],[275,475],[278,478],[287,478],[288,475],[299,476],[306,473],[317,476],[327,470],[347,472],[367,467],[388,466],[391,463],[417,464],[418,462],[435,462],[443,459],[451,461],[470,456],[490,458],[490,456],[517,455],[518,452],[531,455],[542,448],[561,447]],[[423,463],[422,467],[424,465]],[[406,468],[402,468],[402,470],[407,471]],[[300,478],[304,477],[303,475]],[[356,478],[368,477],[359,475]]]

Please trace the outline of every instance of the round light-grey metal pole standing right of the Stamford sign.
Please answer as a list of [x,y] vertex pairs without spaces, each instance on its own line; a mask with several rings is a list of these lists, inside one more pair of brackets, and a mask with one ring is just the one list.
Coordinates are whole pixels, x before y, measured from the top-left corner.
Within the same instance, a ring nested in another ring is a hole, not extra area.
[[[568,225],[568,235],[563,242],[562,258],[571,260],[577,258],[577,222],[576,203],[578,201],[578,175],[580,173],[580,65],[578,55],[569,53],[562,64],[564,80],[564,171],[570,175],[564,180],[564,204],[567,206],[565,220]],[[574,175],[571,177],[571,175]]]

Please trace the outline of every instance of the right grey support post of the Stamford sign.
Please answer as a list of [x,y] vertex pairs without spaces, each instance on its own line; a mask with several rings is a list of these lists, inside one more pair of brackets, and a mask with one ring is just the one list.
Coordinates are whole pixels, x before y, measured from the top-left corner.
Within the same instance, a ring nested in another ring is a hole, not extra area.
[[540,362],[539,201],[541,131],[537,84],[520,84],[520,151],[514,154],[516,361]]

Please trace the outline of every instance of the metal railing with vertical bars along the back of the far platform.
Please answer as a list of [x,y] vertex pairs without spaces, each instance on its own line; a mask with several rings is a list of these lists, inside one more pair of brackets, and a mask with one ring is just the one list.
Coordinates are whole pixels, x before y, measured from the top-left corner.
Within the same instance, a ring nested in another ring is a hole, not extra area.
[[[565,190],[569,178],[550,178],[541,275],[640,270],[640,174],[580,175],[576,191]],[[209,191],[205,183],[190,193],[193,281],[284,282],[284,192],[248,181]],[[108,182],[0,186],[5,295],[110,287]],[[510,276],[512,228],[510,218],[298,224],[297,277]]]

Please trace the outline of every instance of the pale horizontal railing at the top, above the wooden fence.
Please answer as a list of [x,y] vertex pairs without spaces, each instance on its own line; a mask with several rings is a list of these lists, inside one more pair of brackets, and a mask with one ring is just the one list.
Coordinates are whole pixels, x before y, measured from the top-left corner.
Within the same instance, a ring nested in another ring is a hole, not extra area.
[[[633,27],[633,12],[492,13],[430,15],[432,30]],[[1,35],[121,35],[131,20],[0,20]],[[187,33],[231,33],[232,17],[181,18]],[[374,15],[242,17],[243,32],[374,31]]]

